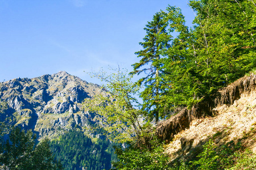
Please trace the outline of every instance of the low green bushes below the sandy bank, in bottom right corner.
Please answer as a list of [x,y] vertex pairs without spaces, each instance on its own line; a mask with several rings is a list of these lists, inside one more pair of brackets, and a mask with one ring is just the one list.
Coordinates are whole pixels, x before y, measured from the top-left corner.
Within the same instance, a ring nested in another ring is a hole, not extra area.
[[256,155],[246,149],[243,151],[241,142],[230,141],[221,148],[216,148],[210,140],[203,146],[203,151],[197,159],[185,163],[175,164],[172,170],[183,169],[254,169],[256,168]]

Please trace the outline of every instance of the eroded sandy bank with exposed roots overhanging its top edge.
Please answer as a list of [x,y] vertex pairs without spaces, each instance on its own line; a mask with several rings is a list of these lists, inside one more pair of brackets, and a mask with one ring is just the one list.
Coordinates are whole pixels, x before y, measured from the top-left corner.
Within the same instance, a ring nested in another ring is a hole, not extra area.
[[[243,147],[256,152],[256,75],[238,79],[220,90],[219,94],[214,101],[215,107],[210,108],[213,116],[191,118],[196,113],[184,109],[160,124],[158,130],[164,129],[164,133],[168,133],[167,129],[171,132],[176,130],[175,134],[168,135],[171,142],[167,145],[166,152],[170,155],[171,162],[177,159],[193,159],[209,139],[212,139],[217,148],[232,141],[241,142]],[[164,136],[167,135],[160,135]]]

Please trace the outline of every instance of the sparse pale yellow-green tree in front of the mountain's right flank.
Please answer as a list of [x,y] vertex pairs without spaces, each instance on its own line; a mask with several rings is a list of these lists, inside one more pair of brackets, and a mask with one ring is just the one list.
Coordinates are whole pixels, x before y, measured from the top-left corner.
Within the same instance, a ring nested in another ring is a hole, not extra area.
[[106,75],[105,71],[92,73],[107,83],[105,89],[108,94],[85,99],[84,107],[97,113],[95,120],[100,122],[98,127],[106,131],[110,140],[123,143],[141,135],[143,112],[134,106],[138,103],[135,96],[139,87],[131,81],[132,76],[120,69],[113,71],[115,73],[110,75]]

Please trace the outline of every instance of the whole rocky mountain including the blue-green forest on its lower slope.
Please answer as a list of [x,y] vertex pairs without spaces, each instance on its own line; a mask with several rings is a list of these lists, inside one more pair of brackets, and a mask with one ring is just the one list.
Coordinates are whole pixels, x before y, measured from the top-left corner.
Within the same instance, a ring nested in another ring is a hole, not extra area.
[[65,169],[110,169],[115,159],[113,143],[102,135],[82,101],[106,95],[97,84],[87,83],[65,71],[38,78],[17,78],[0,84],[1,101],[7,110],[0,114],[9,125],[32,129],[50,147]]

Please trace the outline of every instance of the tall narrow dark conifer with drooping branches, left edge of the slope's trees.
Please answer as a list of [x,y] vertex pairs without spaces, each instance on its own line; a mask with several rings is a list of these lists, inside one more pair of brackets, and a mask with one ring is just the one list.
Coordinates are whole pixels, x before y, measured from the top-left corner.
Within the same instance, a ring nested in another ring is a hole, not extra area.
[[[134,71],[130,74],[145,73],[146,76],[138,80],[139,85],[144,85],[144,91],[141,92],[143,99],[142,109],[150,113],[156,122],[159,120],[159,100],[162,92],[162,70],[160,67],[160,58],[163,50],[168,48],[170,35],[167,34],[168,20],[166,12],[160,11],[153,16],[153,20],[146,25],[146,36],[144,42],[139,42],[143,50],[135,52],[138,57],[142,57],[138,63],[132,66]],[[150,65],[147,67],[146,65]]]

